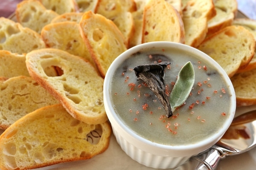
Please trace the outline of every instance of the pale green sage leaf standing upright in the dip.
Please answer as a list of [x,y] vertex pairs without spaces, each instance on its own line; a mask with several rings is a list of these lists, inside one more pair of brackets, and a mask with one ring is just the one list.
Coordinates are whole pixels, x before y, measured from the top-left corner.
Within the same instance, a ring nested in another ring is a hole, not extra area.
[[170,94],[172,112],[186,101],[195,82],[195,71],[191,62],[181,68],[177,81]]

